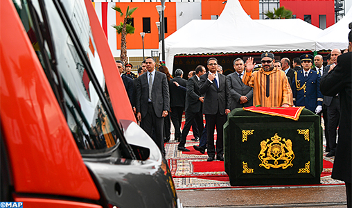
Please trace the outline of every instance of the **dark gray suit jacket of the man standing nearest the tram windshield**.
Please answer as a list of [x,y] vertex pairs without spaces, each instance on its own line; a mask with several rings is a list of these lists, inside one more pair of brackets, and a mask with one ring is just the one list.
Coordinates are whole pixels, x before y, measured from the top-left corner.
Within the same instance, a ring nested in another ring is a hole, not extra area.
[[[148,71],[143,73],[137,79],[136,111],[137,113],[141,112],[142,119],[146,116],[148,111],[148,73]],[[157,114],[159,118],[162,116],[163,110],[170,110],[168,80],[166,79],[165,73],[159,71],[155,71],[155,78],[152,85],[152,105],[155,114]]]

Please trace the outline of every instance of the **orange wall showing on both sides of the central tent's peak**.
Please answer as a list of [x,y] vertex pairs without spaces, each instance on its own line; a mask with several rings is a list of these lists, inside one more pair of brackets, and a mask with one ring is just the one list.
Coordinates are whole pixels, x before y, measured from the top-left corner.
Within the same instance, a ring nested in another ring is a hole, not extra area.
[[[225,0],[202,0],[202,19],[211,19],[211,15],[220,15],[225,7]],[[251,15],[252,19],[259,19],[259,0],[240,0],[240,4]]]

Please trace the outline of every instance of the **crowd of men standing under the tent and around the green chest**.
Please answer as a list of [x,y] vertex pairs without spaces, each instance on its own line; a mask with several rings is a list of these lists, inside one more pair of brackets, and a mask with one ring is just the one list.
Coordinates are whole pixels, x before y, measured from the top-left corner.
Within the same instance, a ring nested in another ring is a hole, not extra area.
[[[351,35],[350,33],[349,51],[352,51]],[[164,154],[164,142],[170,139],[165,133],[170,132],[170,127],[165,131],[164,128],[167,127],[164,119],[171,119],[175,127],[178,150],[190,151],[185,144],[192,127],[195,133],[193,140],[200,141],[200,145],[193,148],[202,154],[207,149],[207,161],[211,162],[215,159],[224,161],[222,128],[227,121],[227,114],[237,107],[304,106],[319,114],[325,125],[326,157],[336,155],[333,177],[344,180],[346,191],[351,194],[351,52],[347,51],[344,59],[340,57],[340,49],[333,49],[328,54],[328,64],[324,67],[322,55],[313,57],[303,54],[292,60],[291,68],[289,58],[275,60],[273,53],[263,53],[260,68],[253,63],[252,57],[246,61],[236,58],[234,72],[227,76],[222,74],[223,69],[218,60],[209,58],[206,67],[199,65],[195,71],[188,73],[188,80],[182,78],[182,69],[175,70],[175,78],[168,80],[168,71],[157,71],[155,60],[150,57],[143,61],[138,76],[131,72],[132,64],[124,65],[123,62],[116,61],[116,66],[123,78],[137,121]],[[335,76],[350,80],[340,82]],[[320,86],[321,80],[325,81],[323,86]],[[342,106],[346,106],[346,109]],[[344,111],[347,111],[346,114]],[[181,131],[184,112],[186,121]],[[342,126],[340,117],[346,117],[346,126]],[[349,133],[342,132],[344,129],[348,129]],[[347,159],[349,169],[342,168],[343,159]],[[335,168],[337,166],[339,168]],[[348,203],[351,205],[351,199],[348,199]]]

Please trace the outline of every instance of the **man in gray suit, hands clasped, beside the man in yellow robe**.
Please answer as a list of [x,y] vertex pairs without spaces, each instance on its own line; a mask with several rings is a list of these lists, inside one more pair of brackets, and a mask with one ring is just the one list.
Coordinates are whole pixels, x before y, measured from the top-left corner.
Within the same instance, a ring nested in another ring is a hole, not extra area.
[[243,84],[243,69],[245,64],[241,58],[234,60],[234,73],[226,77],[226,87],[229,97],[227,109],[234,110],[236,107],[248,107],[253,105],[253,87]]

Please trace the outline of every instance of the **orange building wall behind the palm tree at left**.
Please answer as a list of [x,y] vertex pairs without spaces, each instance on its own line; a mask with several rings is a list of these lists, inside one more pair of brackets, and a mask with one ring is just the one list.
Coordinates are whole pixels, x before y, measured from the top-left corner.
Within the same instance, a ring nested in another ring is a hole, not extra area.
[[[142,49],[142,38],[139,33],[143,32],[143,17],[150,17],[150,33],[144,36],[144,49],[157,49],[159,48],[158,40],[158,28],[155,24],[159,21],[159,13],[155,6],[160,5],[160,2],[133,2],[133,3],[116,3],[123,12],[126,11],[127,6],[130,8],[138,7],[132,14],[134,18],[134,34],[127,35],[127,49]],[[164,16],[168,18],[168,33],[165,33],[165,38],[176,31],[176,3],[166,2],[165,3]],[[123,21],[123,17],[120,14],[116,14],[116,24]],[[117,35],[117,49],[121,49],[121,35]]]

